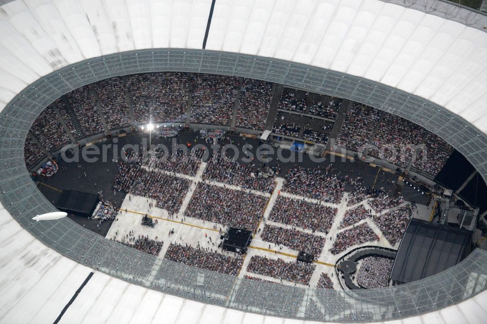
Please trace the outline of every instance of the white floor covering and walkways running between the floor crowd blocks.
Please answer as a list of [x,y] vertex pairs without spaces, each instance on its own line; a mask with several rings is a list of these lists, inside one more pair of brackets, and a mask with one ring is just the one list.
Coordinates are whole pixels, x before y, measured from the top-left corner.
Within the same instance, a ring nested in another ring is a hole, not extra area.
[[[147,168],[147,167],[145,167]],[[156,207],[150,207],[150,203],[155,205],[155,201],[152,199],[147,199],[143,197],[136,197],[136,196],[129,196],[125,198],[125,200],[122,203],[121,206],[121,213],[117,216],[116,220],[113,222],[112,227],[110,228],[107,237],[108,238],[113,238],[116,237],[117,239],[121,239],[121,237],[126,236],[129,231],[134,231],[134,235],[137,237],[139,234],[140,235],[148,235],[149,238],[152,239],[158,239],[158,240],[163,240],[164,245],[162,247],[161,252],[159,253],[159,257],[163,258],[170,242],[177,242],[180,244],[188,244],[193,247],[196,247],[198,244],[200,247],[204,249],[209,249],[209,250],[216,250],[218,246],[218,241],[220,239],[220,233],[219,230],[225,230],[225,228],[221,224],[213,223],[213,222],[208,222],[204,221],[201,219],[195,219],[195,218],[186,218],[184,217],[186,208],[191,201],[192,195],[198,185],[199,182],[204,181],[202,180],[203,173],[206,168],[206,163],[203,162],[201,163],[196,175],[194,177],[184,175],[184,174],[179,174],[179,173],[174,173],[174,172],[169,172],[169,171],[163,171],[159,169],[152,169],[154,171],[158,172],[163,172],[165,174],[175,176],[175,177],[180,177],[180,178],[185,178],[188,180],[191,180],[191,185],[188,190],[188,192],[185,195],[185,198],[183,200],[183,203],[181,205],[181,208],[177,215],[170,216],[168,211],[165,209],[160,209]],[[217,181],[205,181],[206,183],[209,183],[211,185],[217,185],[217,186],[225,186],[230,189],[234,190],[242,190],[248,192],[249,190],[245,190],[240,186],[235,186],[235,185],[228,185],[224,184],[221,182]],[[311,287],[316,287],[319,277],[322,272],[327,273],[328,276],[331,278],[331,280],[334,283],[334,286],[336,288],[339,287],[337,277],[335,275],[335,270],[333,267],[329,267],[326,264],[335,264],[337,259],[343,255],[344,253],[347,253],[351,251],[352,249],[355,249],[360,246],[367,246],[367,245],[372,245],[372,246],[383,246],[383,247],[389,247],[392,248],[391,244],[386,240],[384,235],[380,232],[380,230],[377,228],[375,223],[372,221],[372,219],[363,219],[359,221],[358,223],[355,224],[355,226],[360,225],[362,223],[367,223],[379,236],[379,241],[375,242],[365,242],[362,244],[357,244],[353,245],[349,248],[347,248],[345,251],[333,255],[330,253],[330,249],[333,246],[333,243],[335,241],[335,238],[337,236],[337,233],[345,231],[347,229],[353,228],[354,225],[348,226],[343,229],[338,229],[338,226],[340,224],[340,221],[343,220],[343,217],[345,215],[345,212],[348,209],[355,208],[359,204],[363,204],[365,208],[371,209],[372,210],[372,215],[374,216],[379,216],[382,214],[387,213],[389,210],[384,210],[380,213],[375,213],[375,211],[370,207],[368,200],[370,198],[365,199],[364,201],[358,202],[352,206],[347,206],[347,200],[349,199],[349,194],[344,193],[343,198],[338,204],[335,203],[329,203],[329,202],[323,202],[318,199],[312,199],[312,198],[306,198],[298,195],[293,195],[290,193],[282,192],[282,185],[283,185],[284,179],[283,178],[276,178],[276,188],[273,191],[272,194],[268,193],[263,193],[259,191],[252,190],[252,194],[255,195],[260,195],[260,196],[265,196],[269,197],[268,204],[263,212],[263,217],[262,221],[259,224],[259,229],[258,232],[255,234],[252,243],[251,243],[251,248],[248,249],[247,255],[245,256],[244,259],[244,264],[242,266],[242,269],[239,273],[239,276],[242,277],[244,275],[250,275],[254,277],[260,277],[262,279],[266,279],[269,281],[274,281],[274,282],[280,282],[279,279],[272,278],[272,277],[267,277],[267,276],[262,276],[259,274],[247,272],[246,268],[247,265],[250,261],[250,258],[253,255],[261,255],[261,256],[266,256],[268,258],[281,258],[282,260],[286,262],[292,262],[296,260],[296,255],[299,253],[299,251],[295,251],[292,249],[289,249],[285,246],[278,246],[274,243],[269,243],[265,242],[261,238],[261,233],[263,230],[263,227],[265,224],[272,224],[274,226],[282,227],[282,228],[287,228],[287,229],[292,229],[292,228],[297,228],[291,225],[287,224],[282,224],[282,223],[277,223],[274,221],[270,221],[268,219],[269,214],[271,213],[272,208],[274,207],[274,204],[278,198],[279,195],[282,195],[283,197],[289,197],[289,198],[294,198],[294,199],[299,199],[299,200],[305,200],[307,202],[315,203],[315,204],[321,204],[325,206],[330,206],[330,207],[336,207],[338,212],[337,215],[334,218],[332,227],[329,231],[328,234],[325,233],[320,233],[320,232],[312,232],[309,229],[303,229],[303,228],[298,228],[300,231],[309,233],[309,234],[314,234],[314,235],[319,235],[324,237],[325,240],[325,245],[322,249],[321,254],[318,256],[318,263],[315,263],[316,269],[313,272],[313,275],[310,280],[310,286]],[[405,205],[406,203],[402,203],[400,206]],[[396,207],[397,208],[397,207]],[[393,208],[394,209],[394,208]],[[392,210],[392,209],[391,209]],[[141,225],[141,217],[147,213],[148,216],[152,217],[157,223],[154,228],[150,228],[147,226]],[[171,231],[174,231],[174,234],[170,234]],[[331,239],[330,239],[331,238]],[[234,253],[231,252],[225,252],[222,250],[218,250],[220,253],[227,254],[227,255],[234,255]],[[155,275],[155,270],[153,271],[153,275]],[[288,284],[293,284],[294,283],[288,283]],[[302,286],[303,285],[297,285],[297,286]]]

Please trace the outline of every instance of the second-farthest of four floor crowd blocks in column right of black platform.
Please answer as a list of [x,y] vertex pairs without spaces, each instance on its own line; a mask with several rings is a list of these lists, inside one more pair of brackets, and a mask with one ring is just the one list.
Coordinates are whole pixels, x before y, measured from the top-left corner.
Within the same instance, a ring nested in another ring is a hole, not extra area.
[[337,208],[280,195],[272,207],[269,219],[282,224],[328,233],[336,214]]

